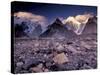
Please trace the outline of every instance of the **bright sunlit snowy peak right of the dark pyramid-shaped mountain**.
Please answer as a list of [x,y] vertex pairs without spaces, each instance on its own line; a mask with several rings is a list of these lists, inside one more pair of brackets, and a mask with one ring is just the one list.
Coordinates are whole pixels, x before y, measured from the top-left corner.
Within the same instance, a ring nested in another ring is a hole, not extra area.
[[93,17],[94,15],[92,14],[69,16],[63,20],[63,24],[67,25],[68,29],[73,30],[77,35],[81,35],[89,19]]

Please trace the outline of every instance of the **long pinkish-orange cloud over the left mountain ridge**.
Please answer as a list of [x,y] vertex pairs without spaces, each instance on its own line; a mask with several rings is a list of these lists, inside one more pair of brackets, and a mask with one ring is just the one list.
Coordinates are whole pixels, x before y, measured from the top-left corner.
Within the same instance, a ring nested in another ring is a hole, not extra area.
[[27,19],[33,23],[39,23],[41,25],[45,25],[47,22],[46,17],[42,15],[33,14],[30,12],[17,12],[17,13],[14,13],[14,16],[22,19],[22,21]]

